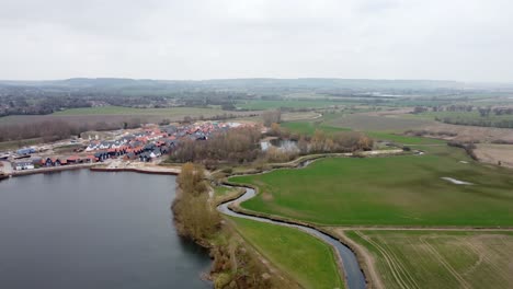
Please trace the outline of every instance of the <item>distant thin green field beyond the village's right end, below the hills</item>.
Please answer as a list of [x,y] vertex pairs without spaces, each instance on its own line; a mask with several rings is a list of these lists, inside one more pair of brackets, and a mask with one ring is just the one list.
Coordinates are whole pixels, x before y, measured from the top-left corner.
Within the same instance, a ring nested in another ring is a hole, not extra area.
[[238,102],[236,104],[237,107],[242,109],[251,109],[251,111],[263,111],[263,109],[273,109],[280,107],[287,107],[287,108],[321,108],[321,107],[329,107],[335,105],[344,105],[346,103],[340,101],[328,101],[328,100],[315,100],[315,101],[306,101],[306,100],[289,100],[289,101],[263,101],[263,100],[255,100],[255,101],[244,101]]

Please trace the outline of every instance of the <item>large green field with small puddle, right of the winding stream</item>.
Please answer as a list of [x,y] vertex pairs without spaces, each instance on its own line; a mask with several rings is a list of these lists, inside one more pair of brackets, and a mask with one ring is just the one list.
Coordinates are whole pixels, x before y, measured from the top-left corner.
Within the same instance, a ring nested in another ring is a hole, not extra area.
[[513,226],[513,171],[447,146],[419,148],[428,153],[324,159],[230,181],[259,187],[243,208],[320,224]]

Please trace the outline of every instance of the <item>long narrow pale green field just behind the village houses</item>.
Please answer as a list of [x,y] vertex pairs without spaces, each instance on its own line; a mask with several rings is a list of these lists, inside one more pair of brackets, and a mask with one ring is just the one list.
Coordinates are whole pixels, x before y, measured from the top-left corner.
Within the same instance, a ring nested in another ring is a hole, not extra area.
[[196,107],[171,107],[171,108],[134,108],[124,106],[99,106],[71,108],[56,112],[53,115],[191,115],[198,116],[201,114],[213,115],[223,114],[224,111],[214,108],[196,108]]

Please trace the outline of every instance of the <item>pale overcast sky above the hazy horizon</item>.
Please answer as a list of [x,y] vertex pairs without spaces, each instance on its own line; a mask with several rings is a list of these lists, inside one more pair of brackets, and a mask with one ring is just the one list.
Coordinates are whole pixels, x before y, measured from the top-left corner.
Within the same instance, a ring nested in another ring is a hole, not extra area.
[[0,0],[0,79],[513,82],[510,0]]

